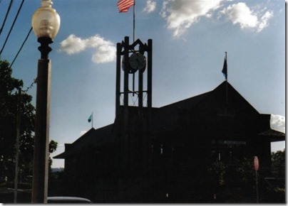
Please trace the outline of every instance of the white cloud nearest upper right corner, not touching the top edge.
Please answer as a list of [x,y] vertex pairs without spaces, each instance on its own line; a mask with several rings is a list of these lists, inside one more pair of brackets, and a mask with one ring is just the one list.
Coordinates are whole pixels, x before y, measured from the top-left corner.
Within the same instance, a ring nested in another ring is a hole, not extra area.
[[[266,8],[262,9],[262,11],[264,10]],[[239,24],[241,28],[256,28],[257,32],[267,27],[269,18],[273,16],[272,11],[267,11],[263,16],[260,16],[257,11],[251,10],[243,2],[232,4],[220,13],[227,15],[233,24]]]

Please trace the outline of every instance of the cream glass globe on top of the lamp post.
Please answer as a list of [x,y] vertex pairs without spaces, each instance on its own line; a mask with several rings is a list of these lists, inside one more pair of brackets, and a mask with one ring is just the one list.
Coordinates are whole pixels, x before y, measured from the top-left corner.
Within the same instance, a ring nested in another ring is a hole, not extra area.
[[38,38],[51,38],[57,35],[60,28],[60,16],[55,9],[52,9],[51,0],[42,0],[32,17],[32,27]]

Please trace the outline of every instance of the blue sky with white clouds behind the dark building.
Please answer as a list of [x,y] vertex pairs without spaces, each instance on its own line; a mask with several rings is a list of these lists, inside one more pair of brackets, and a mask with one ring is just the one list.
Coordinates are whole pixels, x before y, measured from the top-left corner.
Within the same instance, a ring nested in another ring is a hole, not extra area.
[[[54,0],[61,26],[49,58],[52,61],[50,138],[76,141],[93,126],[115,118],[115,46],[133,39],[133,8],[118,13],[118,0]],[[0,23],[9,6],[0,3]],[[14,1],[0,36],[0,47],[21,4]],[[29,29],[38,0],[23,4],[1,59],[14,59]],[[209,92],[228,81],[261,114],[275,114],[274,125],[284,129],[285,9],[284,1],[136,0],[135,35],[153,39],[153,107]],[[36,78],[39,44],[32,32],[16,59],[13,76],[24,89]],[[29,94],[36,96],[36,86]],[[280,115],[280,116],[278,116]],[[284,142],[272,149],[284,148]],[[53,160],[53,167],[63,166]]]

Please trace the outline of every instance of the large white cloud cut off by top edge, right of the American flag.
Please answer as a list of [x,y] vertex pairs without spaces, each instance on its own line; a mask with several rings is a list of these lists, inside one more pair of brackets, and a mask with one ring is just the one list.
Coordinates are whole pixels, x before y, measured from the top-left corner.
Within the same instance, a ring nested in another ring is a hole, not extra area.
[[200,17],[212,16],[212,11],[220,7],[223,0],[164,0],[160,16],[166,19],[173,36],[179,37]]

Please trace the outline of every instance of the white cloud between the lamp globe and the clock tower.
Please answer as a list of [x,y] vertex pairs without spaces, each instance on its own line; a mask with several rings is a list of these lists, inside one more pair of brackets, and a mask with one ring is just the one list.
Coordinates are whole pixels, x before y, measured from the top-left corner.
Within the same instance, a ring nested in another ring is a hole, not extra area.
[[116,58],[116,48],[110,40],[105,40],[96,34],[90,38],[79,38],[73,34],[60,43],[60,51],[69,55],[81,53],[88,48],[95,48],[92,56],[94,63],[109,63]]

